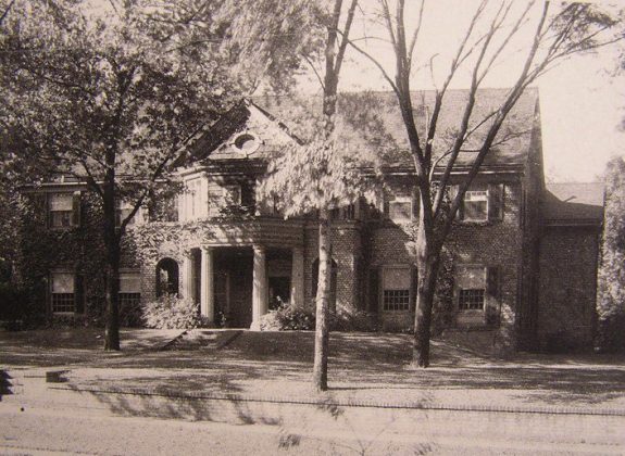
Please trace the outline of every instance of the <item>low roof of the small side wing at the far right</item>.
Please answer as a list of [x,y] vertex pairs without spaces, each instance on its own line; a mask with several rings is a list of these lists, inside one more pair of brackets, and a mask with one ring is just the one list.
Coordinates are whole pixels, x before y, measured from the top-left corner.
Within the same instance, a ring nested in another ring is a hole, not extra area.
[[603,220],[603,183],[547,183],[542,215],[549,225],[600,225]]

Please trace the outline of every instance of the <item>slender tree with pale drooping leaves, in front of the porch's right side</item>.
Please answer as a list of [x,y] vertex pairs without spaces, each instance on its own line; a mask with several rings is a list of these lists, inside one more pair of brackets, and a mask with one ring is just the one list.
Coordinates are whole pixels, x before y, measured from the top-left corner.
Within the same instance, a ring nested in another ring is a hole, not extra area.
[[[261,192],[279,194],[286,216],[318,211],[318,287],[313,385],[327,389],[328,308],[332,262],[329,210],[355,198],[355,174],[345,165],[336,143],[337,92],[347,37],[358,0],[347,9],[342,0],[232,0],[225,11],[233,16],[229,53],[248,67],[262,67],[270,85],[285,91],[293,87],[295,74],[305,62],[314,71],[323,90],[321,125],[307,138],[278,157],[263,182]],[[260,20],[262,18],[262,20]],[[317,65],[321,63],[318,68]],[[259,80],[260,84],[260,80]],[[314,119],[314,114],[309,118]]]

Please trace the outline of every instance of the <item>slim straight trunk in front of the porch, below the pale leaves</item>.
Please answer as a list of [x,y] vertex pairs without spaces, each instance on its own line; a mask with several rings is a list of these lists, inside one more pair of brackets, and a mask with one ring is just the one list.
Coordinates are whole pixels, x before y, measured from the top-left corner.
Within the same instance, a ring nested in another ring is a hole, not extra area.
[[329,342],[328,308],[330,287],[330,236],[328,211],[320,211],[318,223],[318,280],[315,315],[315,353],[313,385],[316,391],[327,390],[327,355]]

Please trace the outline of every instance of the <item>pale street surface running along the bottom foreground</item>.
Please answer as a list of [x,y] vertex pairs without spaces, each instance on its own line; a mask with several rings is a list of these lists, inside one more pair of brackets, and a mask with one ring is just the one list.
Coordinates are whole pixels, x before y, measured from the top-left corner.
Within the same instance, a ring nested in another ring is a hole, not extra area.
[[[625,418],[350,409],[338,418],[229,425],[0,403],[0,454],[623,454]],[[361,418],[377,423],[361,426]],[[358,429],[358,431],[357,431]],[[475,430],[472,436],[472,429]]]

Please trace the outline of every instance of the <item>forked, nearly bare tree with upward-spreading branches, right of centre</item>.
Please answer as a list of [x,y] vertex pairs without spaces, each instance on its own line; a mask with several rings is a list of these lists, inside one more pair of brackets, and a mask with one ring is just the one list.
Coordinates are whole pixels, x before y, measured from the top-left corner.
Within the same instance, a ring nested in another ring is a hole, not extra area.
[[[395,92],[409,140],[421,200],[416,237],[418,283],[413,364],[427,367],[440,252],[467,188],[495,145],[505,140],[504,121],[525,89],[559,61],[597,49],[616,38],[605,37],[615,25],[615,20],[589,3],[564,3],[552,11],[549,2],[529,1],[520,7],[518,2],[483,0],[477,4],[449,62],[449,71],[436,88],[432,115],[423,125],[418,123],[413,109],[411,83],[420,69],[430,72],[434,78],[435,56],[420,54],[417,49],[420,42],[436,42],[436,38],[422,36],[422,25],[428,20],[427,8],[425,1],[415,3],[416,10],[414,14],[411,13],[414,20],[409,24],[404,0],[395,1],[395,7],[388,0],[379,0],[377,10],[368,13],[372,21],[379,20],[387,33],[389,51],[395,56],[393,72],[385,68],[380,55],[374,55],[361,47],[360,40],[351,40],[350,43],[379,68]],[[412,26],[412,30],[409,26]],[[522,30],[528,27],[534,31],[533,39],[516,51],[523,43],[520,38]],[[474,107],[485,78],[513,51],[520,52],[521,65],[516,68],[512,87],[486,115],[478,115]],[[439,130],[439,115],[448,100],[448,88],[460,73],[471,75],[470,87],[464,105],[458,107],[462,112],[461,121],[449,135],[449,131]],[[446,211],[443,201],[452,185],[452,170],[465,151],[473,152],[474,157],[449,211]]]

